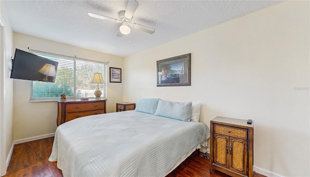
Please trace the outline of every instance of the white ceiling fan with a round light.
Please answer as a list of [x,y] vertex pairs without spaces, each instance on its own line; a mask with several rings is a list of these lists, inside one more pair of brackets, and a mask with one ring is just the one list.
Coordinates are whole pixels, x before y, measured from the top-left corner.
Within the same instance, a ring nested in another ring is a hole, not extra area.
[[89,12],[88,15],[91,17],[109,20],[109,21],[113,21],[116,23],[122,23],[122,25],[120,26],[119,32],[117,33],[117,36],[123,36],[124,34],[130,34],[129,26],[131,26],[134,29],[140,30],[142,32],[153,34],[155,32],[154,28],[143,26],[137,23],[131,23],[132,16],[134,15],[138,5],[139,3],[136,0],[128,0],[126,10],[120,11],[118,13],[119,19],[111,18],[108,16],[102,16],[102,15],[94,14],[91,12]]

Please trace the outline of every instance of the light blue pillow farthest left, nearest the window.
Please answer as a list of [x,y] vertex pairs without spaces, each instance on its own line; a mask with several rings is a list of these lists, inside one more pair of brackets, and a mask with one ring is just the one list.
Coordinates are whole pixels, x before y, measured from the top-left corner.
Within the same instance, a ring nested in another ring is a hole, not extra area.
[[154,114],[157,108],[159,98],[141,98],[139,99],[135,111]]

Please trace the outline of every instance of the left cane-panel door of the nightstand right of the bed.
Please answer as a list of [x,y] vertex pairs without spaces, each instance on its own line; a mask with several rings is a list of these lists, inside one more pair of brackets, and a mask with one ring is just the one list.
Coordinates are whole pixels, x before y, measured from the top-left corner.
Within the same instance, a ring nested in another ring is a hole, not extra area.
[[214,162],[229,168],[229,136],[214,134]]

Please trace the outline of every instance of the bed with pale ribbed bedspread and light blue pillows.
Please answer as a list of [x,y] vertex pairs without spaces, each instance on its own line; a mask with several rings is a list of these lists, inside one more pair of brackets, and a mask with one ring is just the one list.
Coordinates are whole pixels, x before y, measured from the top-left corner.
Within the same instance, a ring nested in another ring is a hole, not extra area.
[[191,121],[192,110],[191,102],[150,98],[134,111],[66,122],[49,161],[64,177],[165,177],[210,137],[205,124]]

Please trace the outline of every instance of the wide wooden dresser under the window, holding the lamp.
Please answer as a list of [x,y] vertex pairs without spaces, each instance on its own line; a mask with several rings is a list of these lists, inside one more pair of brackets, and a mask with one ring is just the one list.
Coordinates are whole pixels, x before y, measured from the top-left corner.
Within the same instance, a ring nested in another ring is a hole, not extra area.
[[79,117],[106,113],[106,99],[68,99],[65,101],[58,100],[57,102],[57,126]]

